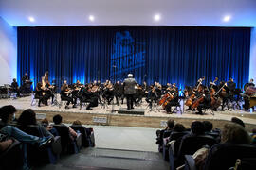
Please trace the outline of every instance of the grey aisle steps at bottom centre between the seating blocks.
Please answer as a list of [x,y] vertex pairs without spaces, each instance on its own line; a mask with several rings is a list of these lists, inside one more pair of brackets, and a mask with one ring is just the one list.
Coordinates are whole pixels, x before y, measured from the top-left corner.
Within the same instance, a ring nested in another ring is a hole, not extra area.
[[84,169],[139,169],[162,170],[169,169],[169,163],[164,161],[157,152],[120,150],[108,148],[85,148],[79,154],[67,155],[57,164],[47,164],[40,170],[84,170]]

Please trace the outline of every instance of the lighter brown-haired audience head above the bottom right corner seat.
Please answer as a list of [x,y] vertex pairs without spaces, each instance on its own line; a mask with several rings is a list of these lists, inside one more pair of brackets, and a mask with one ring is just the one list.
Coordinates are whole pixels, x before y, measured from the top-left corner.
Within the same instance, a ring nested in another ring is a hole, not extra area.
[[244,127],[238,124],[229,123],[224,125],[221,142],[230,144],[250,144],[251,138]]

